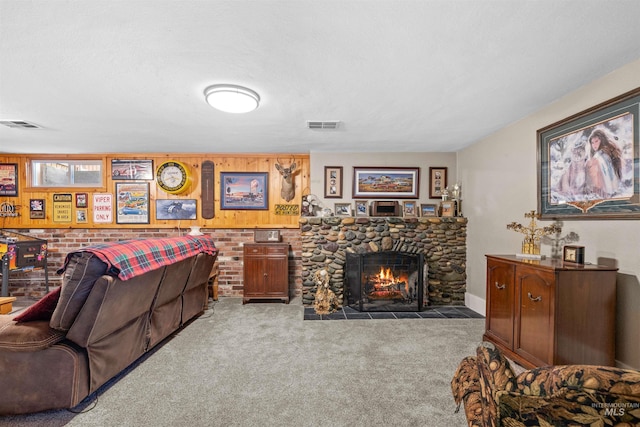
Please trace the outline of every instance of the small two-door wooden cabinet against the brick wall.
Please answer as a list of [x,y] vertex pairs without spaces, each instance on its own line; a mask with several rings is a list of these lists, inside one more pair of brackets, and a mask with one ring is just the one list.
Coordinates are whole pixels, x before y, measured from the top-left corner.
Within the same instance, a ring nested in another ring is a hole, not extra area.
[[244,245],[244,295],[251,299],[279,299],[289,303],[289,245],[246,243]]

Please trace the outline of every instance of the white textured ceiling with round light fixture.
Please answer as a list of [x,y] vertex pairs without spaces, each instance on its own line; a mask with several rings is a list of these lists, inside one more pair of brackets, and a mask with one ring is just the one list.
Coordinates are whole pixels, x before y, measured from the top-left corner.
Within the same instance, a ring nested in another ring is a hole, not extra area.
[[[0,0],[0,152],[451,152],[640,57],[637,0]],[[205,87],[248,86],[222,113]],[[337,130],[308,120],[340,120]]]

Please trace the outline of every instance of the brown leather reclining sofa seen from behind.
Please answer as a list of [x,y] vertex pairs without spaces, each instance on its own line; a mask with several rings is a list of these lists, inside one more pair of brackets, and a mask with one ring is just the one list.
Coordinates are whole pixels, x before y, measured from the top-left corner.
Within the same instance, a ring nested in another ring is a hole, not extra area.
[[57,300],[50,319],[0,316],[0,415],[80,404],[203,312],[216,256],[200,252],[127,280],[90,252],[67,257],[59,297],[43,298]]

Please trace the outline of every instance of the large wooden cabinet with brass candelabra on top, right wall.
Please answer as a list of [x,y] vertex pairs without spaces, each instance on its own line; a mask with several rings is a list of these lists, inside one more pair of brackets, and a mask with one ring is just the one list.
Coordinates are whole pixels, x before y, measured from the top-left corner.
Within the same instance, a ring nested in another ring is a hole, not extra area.
[[487,255],[483,338],[527,368],[614,366],[616,271]]

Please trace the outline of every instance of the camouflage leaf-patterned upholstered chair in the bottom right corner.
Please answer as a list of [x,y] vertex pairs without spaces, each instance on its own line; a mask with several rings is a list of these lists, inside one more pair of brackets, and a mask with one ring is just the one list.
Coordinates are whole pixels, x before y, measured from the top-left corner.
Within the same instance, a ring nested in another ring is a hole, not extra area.
[[460,362],[451,389],[469,426],[640,426],[640,371],[564,365],[516,375],[485,342]]

